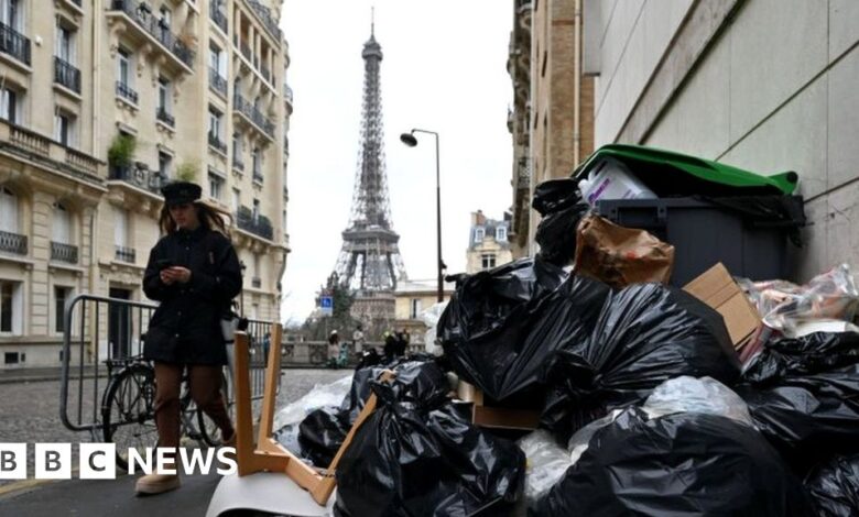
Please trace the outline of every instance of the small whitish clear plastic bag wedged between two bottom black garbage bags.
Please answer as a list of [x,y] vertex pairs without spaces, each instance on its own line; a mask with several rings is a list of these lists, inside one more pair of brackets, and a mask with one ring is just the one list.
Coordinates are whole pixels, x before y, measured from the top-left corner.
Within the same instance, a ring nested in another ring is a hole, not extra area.
[[525,501],[531,505],[561,480],[573,462],[569,452],[548,431],[537,429],[517,443],[528,458]]

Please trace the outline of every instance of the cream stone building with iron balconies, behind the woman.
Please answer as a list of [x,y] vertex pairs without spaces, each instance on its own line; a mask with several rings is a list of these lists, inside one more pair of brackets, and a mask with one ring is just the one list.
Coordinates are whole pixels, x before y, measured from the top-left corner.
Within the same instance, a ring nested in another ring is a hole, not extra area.
[[0,0],[0,367],[57,365],[77,295],[145,300],[159,188],[178,178],[233,215],[244,314],[279,319],[281,3]]

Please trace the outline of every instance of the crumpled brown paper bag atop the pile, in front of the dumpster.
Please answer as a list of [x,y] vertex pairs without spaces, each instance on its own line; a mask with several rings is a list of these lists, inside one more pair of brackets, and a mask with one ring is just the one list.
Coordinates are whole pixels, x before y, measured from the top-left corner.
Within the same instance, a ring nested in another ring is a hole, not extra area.
[[590,215],[576,231],[577,273],[621,288],[643,282],[667,283],[674,266],[674,246],[644,230],[619,227]]

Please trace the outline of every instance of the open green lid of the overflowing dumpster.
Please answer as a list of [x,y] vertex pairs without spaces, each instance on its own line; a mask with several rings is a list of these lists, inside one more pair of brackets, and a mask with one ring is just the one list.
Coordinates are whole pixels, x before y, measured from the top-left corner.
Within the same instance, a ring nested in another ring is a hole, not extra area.
[[[678,169],[695,176],[698,179],[727,187],[737,187],[741,189],[774,189],[773,194],[793,194],[798,180],[798,176],[794,172],[762,176],[719,162],[688,156],[673,151],[627,144],[609,144],[598,148],[585,161],[585,163],[576,168],[573,173],[573,177],[586,177],[606,156],[626,163],[633,173],[637,172],[637,166],[639,168],[642,166],[657,166],[663,169]],[[641,179],[646,183],[645,178]]]

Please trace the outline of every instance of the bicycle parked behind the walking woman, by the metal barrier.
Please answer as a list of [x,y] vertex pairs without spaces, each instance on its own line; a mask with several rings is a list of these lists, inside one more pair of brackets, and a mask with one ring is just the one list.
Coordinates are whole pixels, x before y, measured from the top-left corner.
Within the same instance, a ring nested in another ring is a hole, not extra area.
[[[120,369],[110,382],[101,400],[104,440],[117,444],[117,466],[128,471],[128,451],[157,444],[155,427],[155,369],[142,356],[106,361],[108,371]],[[227,414],[233,418],[231,385],[221,373],[221,394]],[[197,408],[191,396],[188,375],[182,375],[180,395],[180,436],[196,441],[200,447],[217,447],[224,437],[220,429]],[[181,439],[182,441],[182,439]]]

